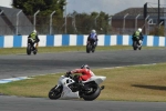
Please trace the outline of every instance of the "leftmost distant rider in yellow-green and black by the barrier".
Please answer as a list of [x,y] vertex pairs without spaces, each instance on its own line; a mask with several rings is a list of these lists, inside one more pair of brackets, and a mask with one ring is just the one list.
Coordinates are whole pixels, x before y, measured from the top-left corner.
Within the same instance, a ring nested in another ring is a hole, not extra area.
[[[35,43],[35,48],[33,50],[38,51],[38,46],[39,46],[39,37],[35,30],[33,30],[28,38],[31,38],[33,40],[33,44]],[[30,42],[30,40],[28,40],[28,43]]]

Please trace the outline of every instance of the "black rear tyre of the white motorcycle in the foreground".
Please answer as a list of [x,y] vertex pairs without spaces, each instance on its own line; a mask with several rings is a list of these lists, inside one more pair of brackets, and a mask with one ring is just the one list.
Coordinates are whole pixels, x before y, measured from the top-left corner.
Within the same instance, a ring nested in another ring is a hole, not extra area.
[[101,94],[101,88],[97,84],[90,84],[90,91],[82,94],[85,101],[93,101]]

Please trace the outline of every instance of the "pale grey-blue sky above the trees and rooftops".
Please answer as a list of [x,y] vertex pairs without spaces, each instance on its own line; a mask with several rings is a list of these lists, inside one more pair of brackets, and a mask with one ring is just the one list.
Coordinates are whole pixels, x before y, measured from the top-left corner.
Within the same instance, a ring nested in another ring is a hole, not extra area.
[[[158,7],[158,0],[66,0],[68,1],[68,13],[73,12],[74,10],[79,13],[85,12],[91,13],[93,11],[96,12],[105,12],[108,14],[115,14],[120,11],[123,11],[127,8],[143,8],[145,2],[148,3],[148,7]],[[160,7],[166,8],[166,0],[159,0]],[[11,8],[12,0],[0,0],[1,7]]]

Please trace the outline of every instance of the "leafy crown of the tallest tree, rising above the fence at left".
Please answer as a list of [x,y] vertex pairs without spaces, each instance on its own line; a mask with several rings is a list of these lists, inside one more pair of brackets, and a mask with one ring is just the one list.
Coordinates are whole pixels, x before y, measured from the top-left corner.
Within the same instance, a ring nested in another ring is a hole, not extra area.
[[33,16],[38,10],[39,14],[48,16],[54,10],[56,16],[63,16],[65,0],[13,0],[12,7],[21,9],[27,16]]

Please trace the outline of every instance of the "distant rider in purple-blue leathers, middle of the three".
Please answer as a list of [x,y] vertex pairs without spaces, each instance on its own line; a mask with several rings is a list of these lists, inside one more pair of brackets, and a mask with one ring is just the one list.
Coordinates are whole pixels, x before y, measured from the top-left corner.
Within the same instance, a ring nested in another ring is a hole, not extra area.
[[92,44],[94,44],[94,47],[97,46],[97,34],[96,34],[96,31],[93,29],[91,31],[91,33],[89,34],[87,37],[87,42],[91,42]]

